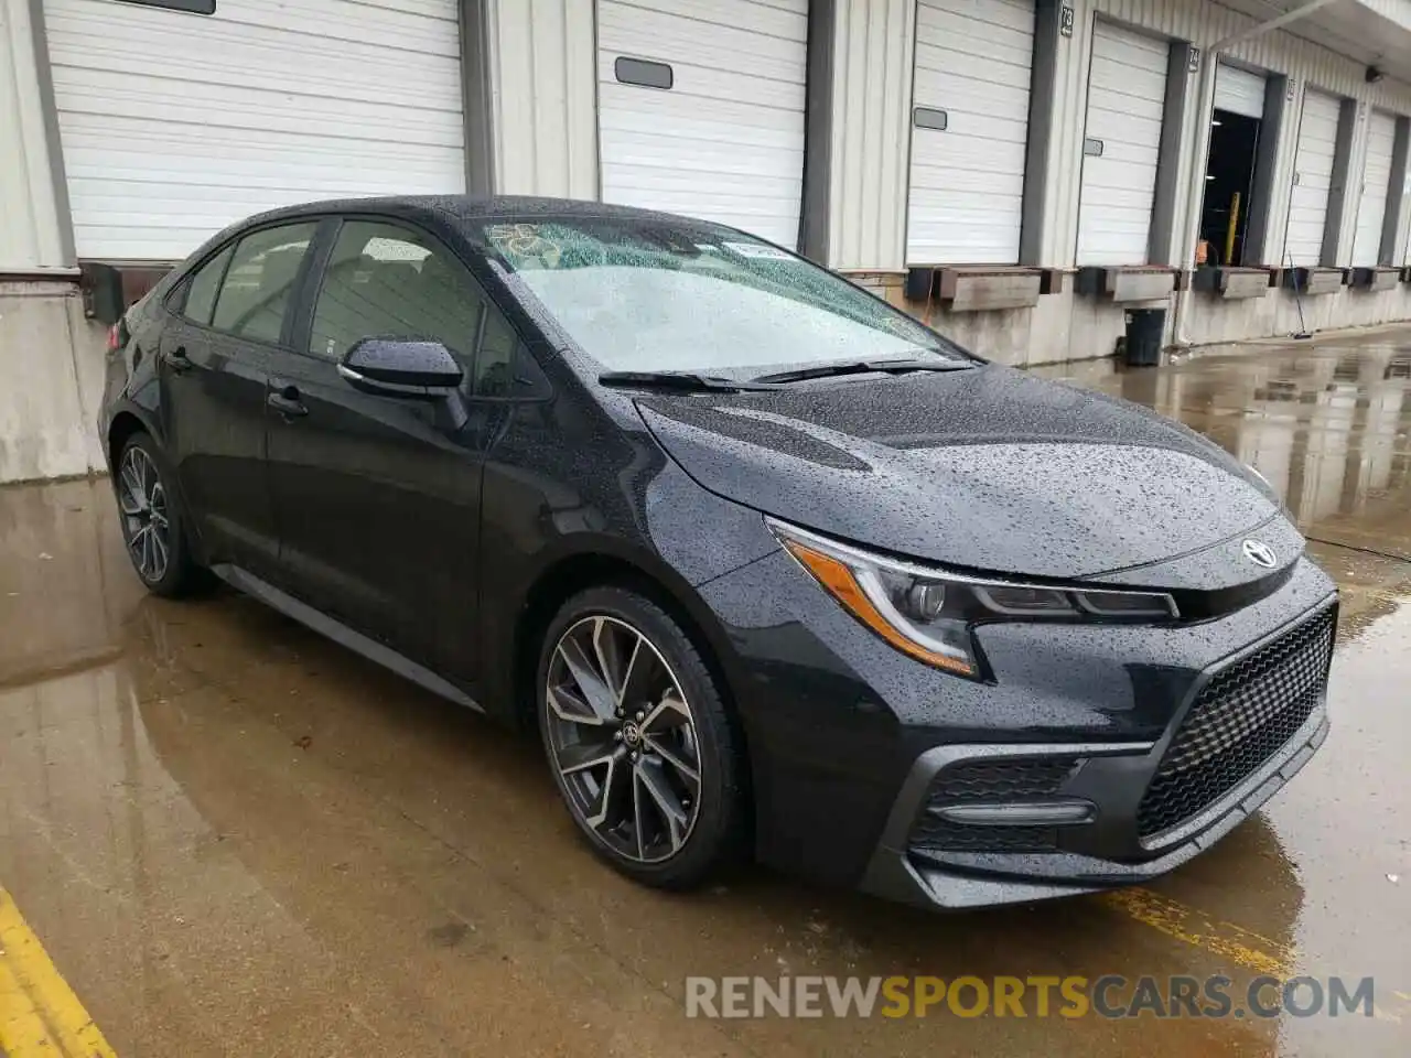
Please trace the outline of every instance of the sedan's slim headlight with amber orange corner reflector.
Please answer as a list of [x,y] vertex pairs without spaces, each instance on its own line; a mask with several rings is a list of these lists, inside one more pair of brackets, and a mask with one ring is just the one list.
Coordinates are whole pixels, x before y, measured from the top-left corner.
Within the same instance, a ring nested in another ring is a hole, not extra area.
[[1161,592],[981,580],[837,543],[766,519],[794,559],[858,621],[904,655],[971,679],[982,621],[1153,622],[1178,616]]

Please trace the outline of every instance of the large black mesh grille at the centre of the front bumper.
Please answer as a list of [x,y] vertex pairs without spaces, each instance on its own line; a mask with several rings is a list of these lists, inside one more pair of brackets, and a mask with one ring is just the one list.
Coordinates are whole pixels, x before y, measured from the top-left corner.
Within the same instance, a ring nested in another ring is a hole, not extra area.
[[1141,797],[1143,838],[1212,805],[1292,738],[1328,679],[1335,624],[1325,609],[1211,677]]

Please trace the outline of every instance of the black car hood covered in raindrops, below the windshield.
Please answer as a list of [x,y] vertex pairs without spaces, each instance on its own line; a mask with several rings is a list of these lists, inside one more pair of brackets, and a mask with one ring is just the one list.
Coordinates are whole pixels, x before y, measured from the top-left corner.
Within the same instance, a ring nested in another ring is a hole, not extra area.
[[1280,515],[1260,478],[1185,426],[995,365],[636,403],[704,488],[962,568],[1103,576]]

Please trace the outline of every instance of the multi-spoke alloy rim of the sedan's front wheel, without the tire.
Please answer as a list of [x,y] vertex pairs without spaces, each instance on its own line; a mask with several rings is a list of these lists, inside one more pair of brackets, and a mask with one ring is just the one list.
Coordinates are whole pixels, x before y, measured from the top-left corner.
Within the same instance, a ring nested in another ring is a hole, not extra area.
[[560,638],[545,686],[549,749],[579,820],[619,856],[676,855],[700,810],[691,707],[660,652],[611,616]]

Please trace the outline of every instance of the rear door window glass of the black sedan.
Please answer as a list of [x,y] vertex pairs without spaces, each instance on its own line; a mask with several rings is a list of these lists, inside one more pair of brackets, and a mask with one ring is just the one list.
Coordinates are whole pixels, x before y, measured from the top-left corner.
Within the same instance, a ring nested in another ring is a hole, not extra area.
[[278,341],[315,227],[312,221],[284,224],[241,238],[220,284],[210,326],[243,339]]

